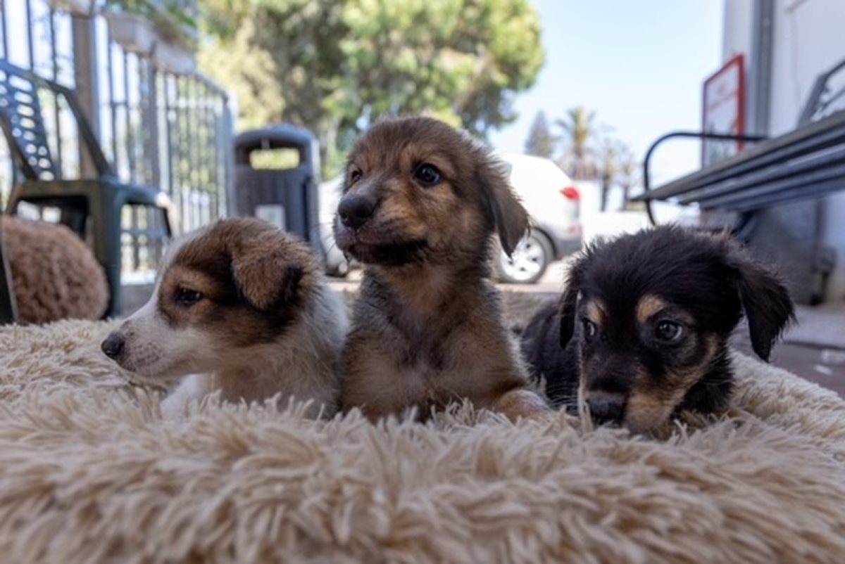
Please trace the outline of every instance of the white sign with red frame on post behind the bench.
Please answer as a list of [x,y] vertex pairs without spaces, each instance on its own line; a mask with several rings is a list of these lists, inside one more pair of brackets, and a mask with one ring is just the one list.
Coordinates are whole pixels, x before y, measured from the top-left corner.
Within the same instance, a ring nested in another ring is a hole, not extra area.
[[[733,57],[704,81],[702,131],[745,133],[745,68],[742,55]],[[727,159],[743,149],[741,141],[702,139],[701,167]]]

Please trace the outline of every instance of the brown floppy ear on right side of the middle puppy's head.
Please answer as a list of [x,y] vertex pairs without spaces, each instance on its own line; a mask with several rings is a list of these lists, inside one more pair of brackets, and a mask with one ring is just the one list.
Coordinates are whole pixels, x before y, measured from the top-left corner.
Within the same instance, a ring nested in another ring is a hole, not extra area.
[[510,257],[516,244],[528,230],[528,212],[516,198],[508,181],[504,165],[486,156],[477,173],[478,179],[490,199],[490,207],[502,249]]

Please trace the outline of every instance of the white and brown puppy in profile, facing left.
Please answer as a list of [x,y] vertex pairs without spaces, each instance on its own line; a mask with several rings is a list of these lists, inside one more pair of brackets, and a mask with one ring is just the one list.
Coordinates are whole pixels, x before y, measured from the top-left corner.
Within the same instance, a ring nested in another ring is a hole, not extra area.
[[101,348],[139,377],[182,379],[162,402],[168,416],[217,390],[233,402],[312,399],[308,415],[331,415],[347,323],[305,243],[238,218],[174,241],[150,301]]

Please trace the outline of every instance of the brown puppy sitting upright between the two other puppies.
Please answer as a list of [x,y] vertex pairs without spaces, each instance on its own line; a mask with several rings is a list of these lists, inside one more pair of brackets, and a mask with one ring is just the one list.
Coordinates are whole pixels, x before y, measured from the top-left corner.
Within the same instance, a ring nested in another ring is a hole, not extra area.
[[488,280],[493,234],[512,252],[528,216],[497,160],[442,122],[379,122],[352,149],[335,241],[365,265],[341,403],[370,419],[456,399],[510,418],[548,409],[529,389]]

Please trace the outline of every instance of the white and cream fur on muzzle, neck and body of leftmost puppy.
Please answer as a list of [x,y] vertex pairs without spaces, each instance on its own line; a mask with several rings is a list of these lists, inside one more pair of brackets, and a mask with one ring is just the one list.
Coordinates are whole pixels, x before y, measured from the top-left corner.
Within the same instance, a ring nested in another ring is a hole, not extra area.
[[[173,256],[171,249],[168,266]],[[341,297],[322,277],[297,321],[278,339],[242,348],[215,348],[202,327],[172,328],[159,311],[158,296],[156,284],[150,301],[118,329],[126,350],[120,364],[145,379],[177,381],[161,404],[166,417],[182,415],[188,404],[216,391],[233,402],[312,400],[311,416],[320,409],[330,416],[338,409],[341,348],[349,322]]]

